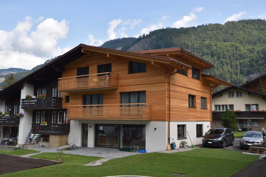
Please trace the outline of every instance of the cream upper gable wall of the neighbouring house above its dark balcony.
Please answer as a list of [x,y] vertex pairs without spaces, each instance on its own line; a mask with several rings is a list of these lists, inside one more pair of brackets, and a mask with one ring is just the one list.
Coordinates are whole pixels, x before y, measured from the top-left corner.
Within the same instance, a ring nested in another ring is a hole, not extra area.
[[[234,91],[234,98],[228,98],[228,91]],[[266,109],[266,99],[254,93],[248,95],[247,91],[241,89],[231,89],[212,97],[212,109],[215,110],[214,105],[234,105],[234,110],[245,111],[245,104],[259,104],[259,109]],[[242,91],[242,97],[236,97],[236,91]]]

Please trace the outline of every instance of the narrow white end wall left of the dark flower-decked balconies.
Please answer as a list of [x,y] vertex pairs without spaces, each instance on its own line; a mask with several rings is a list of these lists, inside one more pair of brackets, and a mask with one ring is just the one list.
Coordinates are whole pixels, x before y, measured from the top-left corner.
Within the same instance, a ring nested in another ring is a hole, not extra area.
[[[23,89],[21,89],[20,99],[25,98],[26,95],[33,95],[34,85],[23,84]],[[20,104],[21,105],[21,104]],[[20,112],[24,113],[24,116],[20,118],[19,122],[19,133],[18,133],[18,144],[23,144],[25,138],[30,130],[32,123],[32,110],[20,109]]]

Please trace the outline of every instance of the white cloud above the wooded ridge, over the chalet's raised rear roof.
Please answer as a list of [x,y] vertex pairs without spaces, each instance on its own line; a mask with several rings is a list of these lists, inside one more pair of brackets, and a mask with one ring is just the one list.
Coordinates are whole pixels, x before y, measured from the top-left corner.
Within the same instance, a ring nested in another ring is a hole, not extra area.
[[195,7],[192,12],[189,13],[189,15],[183,16],[182,19],[177,20],[173,23],[173,27],[175,28],[181,28],[181,27],[190,27],[195,25],[197,16],[195,12],[200,12],[203,10],[203,7]]

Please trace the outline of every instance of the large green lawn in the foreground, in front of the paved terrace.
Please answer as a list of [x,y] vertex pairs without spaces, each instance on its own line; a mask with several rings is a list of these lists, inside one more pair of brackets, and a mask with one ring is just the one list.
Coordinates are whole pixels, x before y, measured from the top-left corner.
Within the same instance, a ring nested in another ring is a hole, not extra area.
[[[57,160],[58,153],[41,153],[35,158]],[[3,176],[113,176],[145,175],[173,177],[172,173],[186,176],[232,176],[256,161],[255,155],[239,151],[200,148],[177,153],[146,153],[112,159],[99,166],[82,166],[99,158],[63,154],[59,165],[5,174]]]

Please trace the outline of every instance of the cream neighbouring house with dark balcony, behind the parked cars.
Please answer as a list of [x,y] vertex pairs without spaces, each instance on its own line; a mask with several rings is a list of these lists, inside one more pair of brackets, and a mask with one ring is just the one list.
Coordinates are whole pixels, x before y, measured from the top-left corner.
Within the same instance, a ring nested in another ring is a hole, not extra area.
[[[229,109],[236,112],[239,130],[242,128],[251,128],[252,130],[265,128],[266,114],[262,111],[266,110],[265,98],[264,94],[237,86],[228,87],[212,94],[212,127],[223,127],[221,114]],[[240,110],[240,112],[237,113],[236,110]]]

